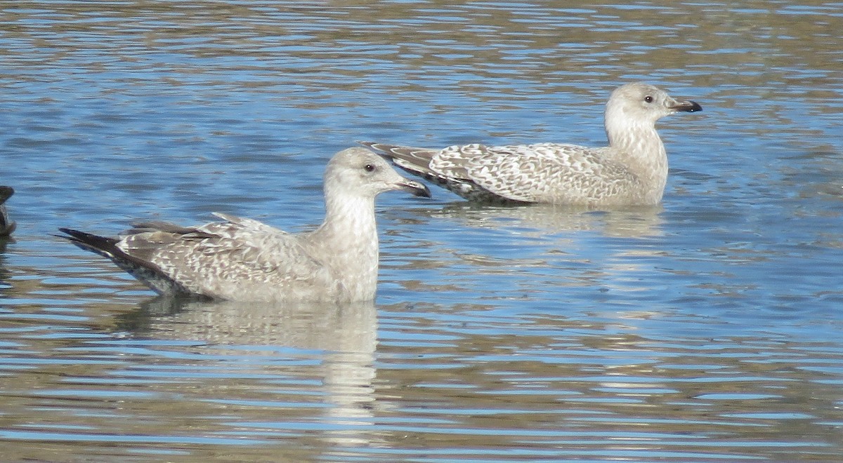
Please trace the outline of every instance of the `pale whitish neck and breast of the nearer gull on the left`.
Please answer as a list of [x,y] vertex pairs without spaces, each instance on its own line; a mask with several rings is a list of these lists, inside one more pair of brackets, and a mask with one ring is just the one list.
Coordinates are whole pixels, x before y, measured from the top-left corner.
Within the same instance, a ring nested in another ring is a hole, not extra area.
[[[340,197],[341,196],[341,197]],[[373,299],[378,284],[378,227],[374,198],[325,192],[325,221],[311,233],[319,258],[353,301]]]

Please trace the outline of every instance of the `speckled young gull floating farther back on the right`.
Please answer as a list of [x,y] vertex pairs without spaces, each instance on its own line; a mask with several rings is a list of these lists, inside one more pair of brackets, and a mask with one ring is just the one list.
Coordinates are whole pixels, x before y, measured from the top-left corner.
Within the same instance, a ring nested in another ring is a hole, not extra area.
[[609,146],[558,143],[448,146],[442,150],[361,141],[405,171],[466,200],[556,205],[655,205],[668,178],[656,121],[701,111],[647,83],[616,88],[606,103]]

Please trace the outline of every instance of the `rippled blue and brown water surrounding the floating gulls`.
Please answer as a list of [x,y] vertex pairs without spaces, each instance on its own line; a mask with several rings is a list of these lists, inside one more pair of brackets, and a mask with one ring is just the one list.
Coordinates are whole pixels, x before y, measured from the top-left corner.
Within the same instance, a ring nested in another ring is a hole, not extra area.
[[[3,460],[839,461],[840,2],[3,2]],[[58,226],[319,223],[327,159],[604,143],[663,205],[384,194],[379,296],[169,305]]]

